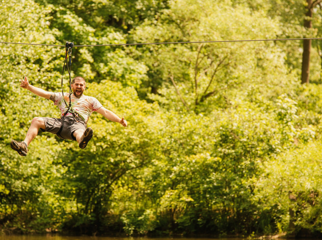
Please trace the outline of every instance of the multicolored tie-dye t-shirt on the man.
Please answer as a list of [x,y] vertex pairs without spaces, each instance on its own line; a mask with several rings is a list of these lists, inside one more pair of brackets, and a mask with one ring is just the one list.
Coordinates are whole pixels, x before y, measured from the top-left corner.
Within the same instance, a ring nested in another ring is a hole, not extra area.
[[[55,92],[55,100],[54,104],[59,107],[59,109],[63,113],[65,113],[69,106],[69,93],[64,93],[64,99],[67,103],[67,106],[65,104],[65,101],[62,99],[62,93],[61,92]],[[71,94],[71,106],[74,109],[74,111],[81,116],[81,118],[84,119],[85,123],[88,122],[88,119],[92,112],[96,111],[100,107],[103,107],[103,105],[94,97],[86,96],[84,94],[81,95],[80,98],[76,98],[74,94]],[[70,112],[67,113],[66,117],[72,116]]]

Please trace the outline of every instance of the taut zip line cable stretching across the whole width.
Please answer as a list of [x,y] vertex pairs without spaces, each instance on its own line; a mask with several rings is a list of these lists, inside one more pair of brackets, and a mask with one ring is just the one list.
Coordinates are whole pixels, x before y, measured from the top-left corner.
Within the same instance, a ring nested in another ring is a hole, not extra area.
[[[195,41],[195,42],[155,42],[155,43],[121,43],[121,44],[97,44],[97,45],[75,45],[73,47],[101,47],[101,46],[131,46],[131,45],[160,45],[160,44],[185,44],[185,43],[220,43],[220,42],[255,42],[255,41],[287,41],[287,40],[320,40],[322,38],[290,38],[290,39],[249,39],[249,40],[218,40],[218,41]],[[24,44],[65,47],[65,45],[19,43],[19,42],[0,42],[5,44]]]

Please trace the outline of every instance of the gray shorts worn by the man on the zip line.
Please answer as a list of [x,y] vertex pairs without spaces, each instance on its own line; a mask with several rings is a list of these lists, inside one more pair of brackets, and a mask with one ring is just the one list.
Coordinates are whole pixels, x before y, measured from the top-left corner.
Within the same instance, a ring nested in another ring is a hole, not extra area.
[[[62,132],[60,133],[62,137],[58,135],[57,136],[59,138],[76,141],[76,138],[73,136],[73,133],[75,132],[75,130],[83,129],[85,131],[87,128],[87,124],[84,122],[84,120],[81,117],[79,117],[77,120],[78,121],[76,122],[73,117],[65,117]],[[41,128],[43,132],[56,134],[58,133],[62,125],[61,118],[43,117],[43,121],[45,122],[45,126],[46,126],[46,129]]]

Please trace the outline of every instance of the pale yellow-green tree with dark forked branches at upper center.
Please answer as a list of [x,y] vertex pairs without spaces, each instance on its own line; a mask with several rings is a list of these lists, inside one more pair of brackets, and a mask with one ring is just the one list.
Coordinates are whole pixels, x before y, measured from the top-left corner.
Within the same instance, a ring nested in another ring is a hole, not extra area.
[[[215,5],[211,1],[189,4],[173,1],[169,6],[170,9],[157,15],[156,20],[137,27],[133,31],[134,40],[238,40],[258,39],[263,33],[266,38],[274,38],[279,33],[276,21],[260,12],[249,14],[248,7],[233,6],[231,1]],[[226,26],[219,22],[230,24]],[[288,71],[284,65],[284,53],[272,42],[149,45],[138,50],[138,59],[144,58],[149,67],[149,79],[142,84],[142,88],[154,93],[149,97],[162,102],[162,106],[169,102],[170,108],[185,108],[195,113],[226,106],[229,95],[254,82],[283,84],[283,80],[278,80],[279,73]],[[211,104],[214,100],[216,104]]]

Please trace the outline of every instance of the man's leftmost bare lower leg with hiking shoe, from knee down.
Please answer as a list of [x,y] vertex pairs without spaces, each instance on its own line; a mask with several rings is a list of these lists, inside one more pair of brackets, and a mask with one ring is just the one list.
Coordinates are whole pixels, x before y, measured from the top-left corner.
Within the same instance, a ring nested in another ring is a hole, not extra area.
[[17,151],[19,155],[26,156],[28,152],[28,146],[31,141],[37,136],[39,128],[45,129],[45,122],[42,117],[35,117],[31,122],[26,137],[23,142],[12,140],[10,147]]

